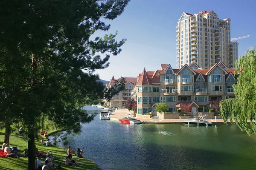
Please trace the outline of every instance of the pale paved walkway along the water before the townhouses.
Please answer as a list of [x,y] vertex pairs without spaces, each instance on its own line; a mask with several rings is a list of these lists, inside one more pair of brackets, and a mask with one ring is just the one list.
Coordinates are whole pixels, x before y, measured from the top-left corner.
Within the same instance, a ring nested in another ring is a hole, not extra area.
[[[128,109],[119,109],[119,110],[116,110],[115,112],[113,112],[111,114],[111,120],[115,120],[115,121],[118,121],[118,119],[121,119],[122,117],[124,117],[127,113],[129,113]],[[143,118],[137,118],[135,117],[136,119],[140,120],[140,121],[145,121],[147,123],[169,123],[169,124],[182,124],[182,120],[186,120],[186,119],[160,119],[158,121],[158,119],[143,119]],[[215,122],[215,119],[205,119],[207,120],[208,122],[212,122],[212,124],[224,124],[224,121],[223,119],[216,119],[216,122]],[[228,121],[230,122],[230,121]]]

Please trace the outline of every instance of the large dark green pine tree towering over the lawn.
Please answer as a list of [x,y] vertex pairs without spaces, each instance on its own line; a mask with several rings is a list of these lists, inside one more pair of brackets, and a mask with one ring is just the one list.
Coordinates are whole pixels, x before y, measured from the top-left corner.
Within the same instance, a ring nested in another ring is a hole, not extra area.
[[117,42],[117,33],[90,37],[108,31],[110,25],[102,20],[122,14],[128,1],[1,2],[0,116],[27,129],[30,170],[35,169],[34,140],[42,119],[79,133],[80,123],[95,117],[81,110],[86,99],[110,99],[124,89],[123,83],[105,89],[93,73],[109,66],[106,52],[119,54],[125,39]]

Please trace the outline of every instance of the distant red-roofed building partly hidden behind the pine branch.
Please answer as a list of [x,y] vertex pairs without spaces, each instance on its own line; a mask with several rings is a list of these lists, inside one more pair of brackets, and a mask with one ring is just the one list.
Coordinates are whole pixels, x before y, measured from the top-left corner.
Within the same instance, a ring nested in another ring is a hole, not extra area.
[[125,79],[125,89],[113,96],[109,101],[105,100],[105,105],[110,108],[124,107],[125,102],[132,98],[131,92],[137,83],[136,77],[120,77],[119,79],[115,79],[113,76],[110,82],[106,85],[106,88],[111,88],[111,86],[121,82],[122,78]]

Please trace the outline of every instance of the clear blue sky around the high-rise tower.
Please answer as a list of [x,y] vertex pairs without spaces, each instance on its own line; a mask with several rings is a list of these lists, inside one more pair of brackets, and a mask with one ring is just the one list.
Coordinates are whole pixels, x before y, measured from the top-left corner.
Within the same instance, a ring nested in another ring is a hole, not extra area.
[[[176,58],[176,28],[183,12],[197,14],[213,10],[220,19],[231,19],[231,38],[251,35],[239,42],[239,56],[256,46],[256,3],[254,0],[222,0],[217,3],[202,0],[131,0],[125,11],[111,24],[109,31],[95,36],[114,34],[116,40],[126,38],[122,52],[111,56],[110,66],[97,70],[100,79],[137,77],[146,71],[160,69],[160,64],[178,68]],[[104,54],[105,56],[105,54]]]

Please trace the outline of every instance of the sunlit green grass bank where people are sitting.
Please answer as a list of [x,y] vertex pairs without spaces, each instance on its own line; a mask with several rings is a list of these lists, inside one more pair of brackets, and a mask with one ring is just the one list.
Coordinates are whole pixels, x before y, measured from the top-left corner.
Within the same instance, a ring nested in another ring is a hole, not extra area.
[[[2,146],[4,140],[4,131],[0,131],[0,144]],[[96,165],[94,162],[90,161],[89,159],[84,158],[77,158],[76,156],[73,156],[73,159],[77,161],[79,166],[77,167],[71,167],[68,165],[65,165],[65,158],[66,158],[66,150],[64,148],[58,147],[58,146],[43,146],[40,144],[40,141],[36,141],[36,146],[38,147],[39,151],[51,151],[53,156],[56,157],[52,162],[54,164],[61,164],[62,170],[100,170],[99,166]],[[10,136],[10,146],[17,146],[18,151],[20,153],[23,153],[23,150],[28,148],[27,147],[27,141],[23,139],[22,136],[16,136],[11,135]],[[42,158],[42,162],[43,162]],[[5,158],[0,157],[0,170],[27,170],[28,159],[27,157],[19,156],[18,158]]]

